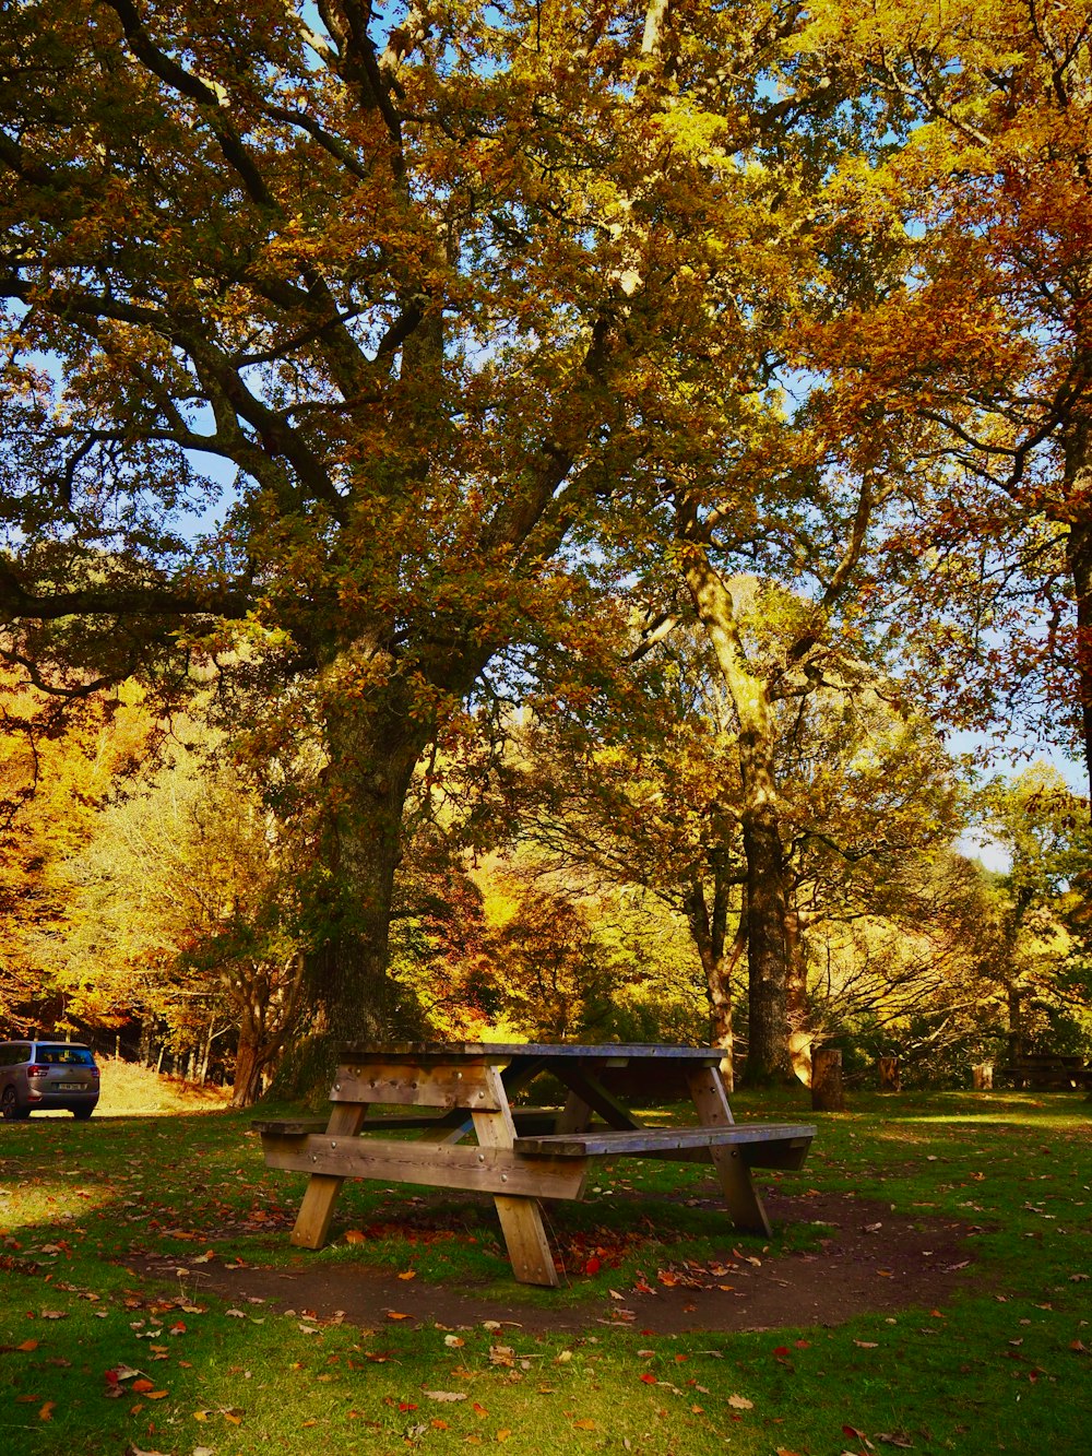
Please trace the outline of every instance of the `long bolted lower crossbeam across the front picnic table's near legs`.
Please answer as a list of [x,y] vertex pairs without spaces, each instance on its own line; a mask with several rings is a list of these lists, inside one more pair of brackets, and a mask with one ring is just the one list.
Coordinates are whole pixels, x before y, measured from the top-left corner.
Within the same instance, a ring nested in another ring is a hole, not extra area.
[[379,1182],[425,1184],[475,1192],[534,1198],[579,1198],[587,1166],[572,1158],[520,1158],[505,1147],[460,1147],[450,1143],[403,1143],[383,1137],[291,1137],[265,1133],[269,1168],[293,1172],[371,1178]]

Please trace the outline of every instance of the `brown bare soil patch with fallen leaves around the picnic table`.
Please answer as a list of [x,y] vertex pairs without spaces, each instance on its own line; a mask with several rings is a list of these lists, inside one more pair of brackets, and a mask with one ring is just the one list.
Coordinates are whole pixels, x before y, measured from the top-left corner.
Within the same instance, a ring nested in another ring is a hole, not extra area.
[[[776,1246],[764,1254],[741,1252],[728,1232],[718,1258],[665,1268],[652,1262],[636,1286],[612,1280],[606,1265],[594,1277],[581,1271],[571,1283],[585,1286],[590,1297],[577,1307],[550,1306],[540,1294],[527,1297],[515,1283],[510,1296],[498,1299],[494,1286],[486,1297],[466,1281],[453,1287],[400,1280],[363,1264],[317,1264],[303,1251],[288,1268],[234,1267],[218,1259],[194,1265],[185,1257],[131,1258],[125,1264],[134,1273],[170,1280],[186,1264],[194,1290],[368,1328],[396,1312],[451,1329],[492,1319],[527,1332],[629,1325],[657,1335],[839,1325],[866,1312],[932,1309],[973,1274],[967,1239],[976,1229],[964,1223],[907,1217],[853,1195],[770,1191],[766,1206],[775,1222],[826,1226],[818,1246],[789,1254],[778,1254]],[[427,1214],[411,1216],[408,1227],[414,1217]]]

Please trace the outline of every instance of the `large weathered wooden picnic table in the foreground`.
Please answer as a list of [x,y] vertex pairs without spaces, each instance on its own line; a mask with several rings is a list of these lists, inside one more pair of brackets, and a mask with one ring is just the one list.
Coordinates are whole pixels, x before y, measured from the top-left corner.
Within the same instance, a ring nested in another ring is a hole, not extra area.
[[[722,1056],[658,1044],[348,1045],[328,1120],[253,1127],[269,1168],[310,1174],[293,1243],[322,1248],[347,1178],[463,1188],[494,1195],[515,1278],[556,1286],[539,1200],[582,1197],[604,1158],[712,1162],[734,1223],[770,1235],[751,1168],[801,1168],[815,1128],[735,1123]],[[521,1105],[517,1098],[542,1077],[563,1101]],[[697,1121],[684,1127],[648,1127],[633,1111],[687,1095]],[[377,1115],[381,1107],[430,1111]],[[464,1142],[470,1134],[475,1142]]]

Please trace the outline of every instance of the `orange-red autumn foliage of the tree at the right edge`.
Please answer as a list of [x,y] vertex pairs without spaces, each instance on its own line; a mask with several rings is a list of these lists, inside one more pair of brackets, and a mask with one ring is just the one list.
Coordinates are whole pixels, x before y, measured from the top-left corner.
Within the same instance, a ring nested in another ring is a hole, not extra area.
[[917,462],[901,630],[949,721],[1022,718],[1092,773],[1092,19],[910,0],[821,29],[904,137],[881,188],[901,278],[821,347]]

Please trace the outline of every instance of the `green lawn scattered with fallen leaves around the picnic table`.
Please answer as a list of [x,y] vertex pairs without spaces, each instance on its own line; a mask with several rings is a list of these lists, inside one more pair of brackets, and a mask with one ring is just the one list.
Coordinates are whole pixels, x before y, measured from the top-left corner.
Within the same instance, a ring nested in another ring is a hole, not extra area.
[[[741,1117],[810,1115],[802,1093],[734,1105]],[[1,1450],[371,1456],[499,1443],[536,1456],[839,1456],[868,1452],[863,1437],[877,1452],[901,1449],[881,1437],[960,1456],[1088,1450],[1092,1108],[1077,1095],[862,1095],[849,1114],[820,1118],[807,1168],[780,1187],[974,1224],[976,1280],[936,1312],[744,1335],[648,1337],[596,1321],[606,1289],[625,1289],[639,1268],[725,1243],[761,1251],[725,1241],[697,1168],[619,1162],[587,1203],[555,1206],[575,1273],[559,1291],[534,1291],[513,1286],[488,1203],[412,1204],[415,1188],[348,1184],[338,1241],[300,1255],[287,1229],[303,1178],[265,1169],[248,1114],[35,1118],[0,1125],[0,1159]],[[626,1187],[642,1195],[639,1211],[622,1204]],[[658,1197],[673,1187],[696,1204]],[[365,1241],[347,1245],[348,1229]],[[770,1255],[815,1232],[778,1229]],[[604,1267],[585,1275],[593,1248]],[[233,1312],[192,1278],[150,1290],[125,1268],[141,1251],[185,1268],[208,1249],[223,1261],[306,1257],[475,1281],[498,1318],[505,1303],[588,1302],[588,1322],[578,1338],[534,1337],[408,1328],[377,1312],[360,1329],[264,1305]],[[106,1372],[125,1367],[140,1374],[111,1398]]]

